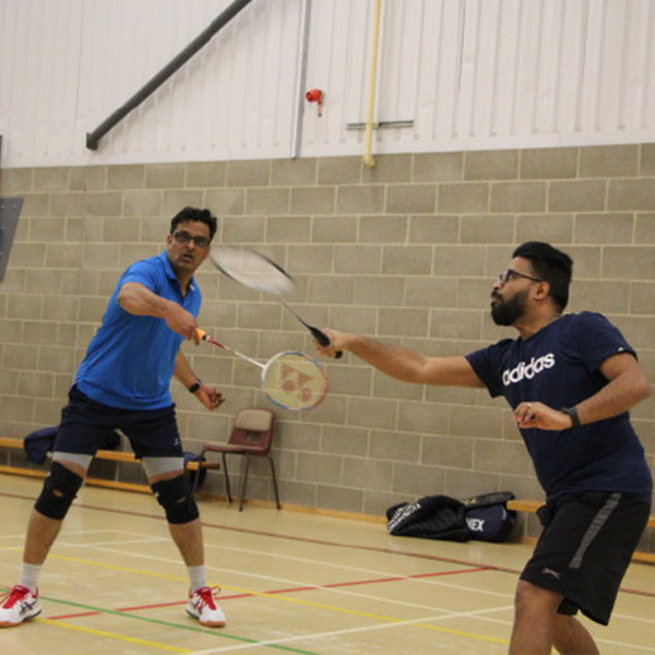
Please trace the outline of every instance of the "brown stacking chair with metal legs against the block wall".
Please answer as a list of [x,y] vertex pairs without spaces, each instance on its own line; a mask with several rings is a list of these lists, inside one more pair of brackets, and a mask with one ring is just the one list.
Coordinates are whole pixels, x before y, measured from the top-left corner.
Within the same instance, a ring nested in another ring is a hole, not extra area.
[[227,443],[205,443],[203,446],[201,456],[204,456],[209,452],[221,453],[221,457],[223,458],[223,473],[225,475],[225,490],[227,491],[227,499],[229,502],[233,501],[233,498],[226,457],[227,455],[242,455],[246,457],[239,511],[243,510],[251,457],[266,457],[269,460],[277,509],[281,509],[282,507],[279,504],[275,464],[273,463],[273,456],[271,455],[274,427],[275,415],[270,409],[241,409],[235,418],[235,425]]

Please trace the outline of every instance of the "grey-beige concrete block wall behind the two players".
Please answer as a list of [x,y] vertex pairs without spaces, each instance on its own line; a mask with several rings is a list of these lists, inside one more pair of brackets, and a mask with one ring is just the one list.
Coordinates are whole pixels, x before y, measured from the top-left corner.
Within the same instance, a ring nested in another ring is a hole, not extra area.
[[[298,283],[287,300],[308,321],[430,355],[513,335],[488,315],[491,284],[515,245],[550,241],[575,261],[569,310],[607,314],[655,381],[655,144],[388,155],[373,169],[359,157],[9,169],[0,183],[25,201],[0,284],[4,437],[58,422],[120,273],[162,249],[188,204],[221,217],[216,242],[285,265]],[[200,323],[225,343],[262,359],[313,352],[274,298],[209,264],[198,278]],[[184,352],[228,397],[210,414],[172,383],[186,449],[199,451],[227,438],[238,409],[266,401],[259,369],[206,344]],[[381,515],[428,493],[540,498],[503,401],[403,384],[347,355],[326,366],[320,407],[277,412],[284,502]],[[655,467],[655,398],[633,417]],[[117,475],[132,480],[128,468]],[[272,498],[265,462],[249,487]],[[221,474],[209,488],[223,490]]]

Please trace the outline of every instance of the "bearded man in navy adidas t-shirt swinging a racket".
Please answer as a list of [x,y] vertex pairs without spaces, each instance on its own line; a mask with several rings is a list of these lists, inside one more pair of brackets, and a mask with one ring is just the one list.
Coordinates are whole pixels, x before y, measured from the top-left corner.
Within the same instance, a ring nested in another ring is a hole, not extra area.
[[562,312],[573,262],[548,243],[523,243],[491,289],[507,338],[462,357],[425,357],[361,335],[325,330],[323,355],[350,350],[418,384],[487,388],[513,409],[546,492],[544,529],[514,600],[510,654],[598,648],[574,618],[607,624],[646,526],[653,479],[628,409],[651,393],[636,355],[605,317]]

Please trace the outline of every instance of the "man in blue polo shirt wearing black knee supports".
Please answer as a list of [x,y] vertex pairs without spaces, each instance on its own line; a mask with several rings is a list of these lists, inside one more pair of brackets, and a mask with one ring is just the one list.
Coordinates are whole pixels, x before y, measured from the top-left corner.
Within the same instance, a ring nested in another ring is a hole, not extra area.
[[207,258],[216,228],[209,210],[183,209],[170,222],[165,250],[132,264],[118,281],[62,409],[50,473],[29,517],[21,583],[2,599],[0,627],[40,614],[41,565],[103,437],[117,428],[142,460],[187,564],[187,614],[203,626],[225,626],[205,583],[202,526],[169,390],[175,376],[207,409],[224,401],[195,377],[180,350],[184,340],[199,343],[202,299],[193,273]]

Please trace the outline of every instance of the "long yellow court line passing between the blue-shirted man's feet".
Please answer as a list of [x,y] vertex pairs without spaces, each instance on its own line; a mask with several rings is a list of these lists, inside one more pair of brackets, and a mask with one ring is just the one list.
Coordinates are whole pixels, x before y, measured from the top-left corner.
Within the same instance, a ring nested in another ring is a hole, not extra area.
[[[165,580],[175,580],[175,581],[187,582],[186,577],[180,577],[180,576],[176,576],[176,575],[167,575],[165,573],[156,573],[154,571],[144,571],[143,569],[131,569],[129,567],[119,567],[117,564],[107,564],[105,562],[96,562],[93,560],[83,560],[83,559],[76,558],[76,557],[69,557],[66,555],[51,555],[50,557],[60,559],[60,560],[64,560],[64,561],[69,561],[69,562],[76,562],[80,564],[88,564],[90,567],[98,567],[100,569],[111,569],[114,571],[124,571],[127,573],[136,573],[140,575],[150,575],[152,577],[162,577]],[[376,621],[384,621],[388,623],[403,623],[404,622],[402,619],[396,619],[395,617],[385,617],[382,615],[376,615],[376,614],[371,614],[368,611],[361,611],[361,610],[357,610],[357,609],[347,609],[345,607],[337,607],[335,605],[326,605],[324,603],[314,603],[312,600],[303,600],[300,598],[290,598],[288,596],[282,596],[279,594],[269,594],[266,592],[253,592],[252,590],[247,590],[243,587],[235,587],[235,586],[230,586],[230,585],[226,585],[226,584],[221,584],[221,588],[230,591],[230,592],[236,592],[239,594],[249,594],[251,596],[261,596],[263,598],[273,598],[275,600],[284,600],[286,603],[294,603],[296,605],[303,605],[306,607],[315,607],[318,609],[327,609],[330,611],[336,611],[336,612],[346,614],[349,616],[373,619]],[[322,588],[323,587],[318,586],[317,591],[322,590]],[[484,634],[476,634],[474,632],[464,632],[461,630],[454,630],[453,628],[442,628],[440,626],[430,626],[428,623],[414,623],[414,626],[416,626],[418,628],[425,628],[426,630],[432,630],[436,632],[446,632],[449,634],[457,634],[460,636],[466,636],[468,639],[477,639],[480,641],[493,642],[493,643],[499,643],[499,644],[509,643],[507,640],[503,640],[503,639],[498,639],[495,636],[487,636]]]

